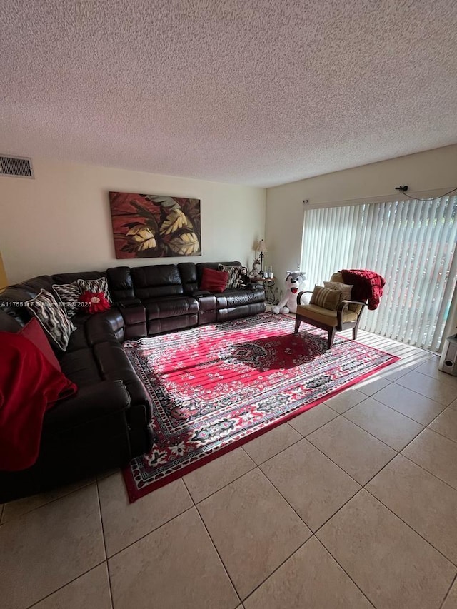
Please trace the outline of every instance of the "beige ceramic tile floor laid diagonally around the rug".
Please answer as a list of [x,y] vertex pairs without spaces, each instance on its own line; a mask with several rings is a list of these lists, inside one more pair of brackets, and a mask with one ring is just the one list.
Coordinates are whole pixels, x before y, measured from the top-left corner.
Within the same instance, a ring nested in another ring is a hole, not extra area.
[[457,609],[457,378],[401,361],[129,505],[0,505],[5,609]]

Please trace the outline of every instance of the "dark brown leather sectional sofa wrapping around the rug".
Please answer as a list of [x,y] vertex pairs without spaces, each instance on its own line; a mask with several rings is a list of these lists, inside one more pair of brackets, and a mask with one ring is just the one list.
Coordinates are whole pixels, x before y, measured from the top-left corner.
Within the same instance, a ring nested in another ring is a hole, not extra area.
[[[209,293],[199,289],[205,266],[219,263],[157,264],[39,276],[0,294],[0,330],[14,332],[29,321],[26,306],[41,288],[55,283],[108,278],[113,306],[72,321],[65,353],[56,353],[76,396],[46,412],[39,458],[20,472],[0,471],[0,503],[86,478],[148,452],[154,442],[151,402],[121,343],[131,338],[262,313],[261,286]],[[224,262],[241,266],[239,262]],[[1,344],[0,344],[1,348]]]

